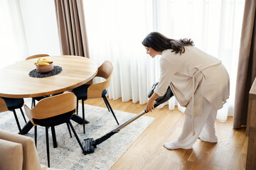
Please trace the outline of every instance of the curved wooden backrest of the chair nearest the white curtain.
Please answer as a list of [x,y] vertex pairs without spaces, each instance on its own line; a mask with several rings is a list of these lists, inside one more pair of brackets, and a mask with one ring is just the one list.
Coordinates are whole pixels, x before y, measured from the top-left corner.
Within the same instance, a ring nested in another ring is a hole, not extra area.
[[110,86],[110,80],[113,72],[112,62],[106,60],[98,68],[98,72],[95,77],[102,77],[106,79],[103,82],[92,84],[89,86],[87,91],[87,98],[100,98],[102,97],[102,91],[107,89]]

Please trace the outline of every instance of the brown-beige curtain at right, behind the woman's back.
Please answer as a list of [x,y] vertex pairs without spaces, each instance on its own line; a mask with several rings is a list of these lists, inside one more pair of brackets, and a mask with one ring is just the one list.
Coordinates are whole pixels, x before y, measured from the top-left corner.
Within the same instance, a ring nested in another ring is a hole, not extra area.
[[250,87],[256,77],[256,1],[245,1],[242,34],[238,61],[238,79],[235,91],[235,129],[247,122],[247,107]]

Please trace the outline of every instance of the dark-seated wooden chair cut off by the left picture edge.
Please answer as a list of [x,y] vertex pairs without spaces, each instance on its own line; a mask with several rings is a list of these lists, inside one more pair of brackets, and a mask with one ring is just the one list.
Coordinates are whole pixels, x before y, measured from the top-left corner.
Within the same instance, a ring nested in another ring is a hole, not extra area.
[[17,117],[15,109],[17,109],[17,108],[20,109],[21,114],[23,116],[23,119],[25,120],[25,123],[27,123],[26,118],[24,116],[24,113],[22,111],[23,104],[24,104],[23,98],[4,98],[4,97],[0,97],[0,113],[4,112],[4,111],[12,111],[14,113],[14,117],[15,117],[16,123],[18,125],[18,130],[19,130],[21,135],[22,135],[21,126],[18,122],[18,117]]

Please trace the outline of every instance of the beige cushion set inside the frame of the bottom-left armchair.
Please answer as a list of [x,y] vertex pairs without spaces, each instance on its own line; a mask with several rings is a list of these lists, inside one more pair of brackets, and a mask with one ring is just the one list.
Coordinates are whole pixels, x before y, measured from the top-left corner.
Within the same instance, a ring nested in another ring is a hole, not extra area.
[[22,145],[8,140],[0,140],[0,169],[22,169],[23,150]]

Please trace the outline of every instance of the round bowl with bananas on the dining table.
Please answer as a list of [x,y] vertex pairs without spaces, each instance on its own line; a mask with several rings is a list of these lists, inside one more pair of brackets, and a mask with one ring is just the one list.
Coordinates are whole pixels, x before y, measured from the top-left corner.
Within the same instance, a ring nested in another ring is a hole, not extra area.
[[46,60],[46,59],[38,59],[35,63],[36,70],[41,73],[50,72],[53,70],[54,64],[53,60]]

